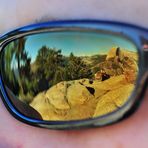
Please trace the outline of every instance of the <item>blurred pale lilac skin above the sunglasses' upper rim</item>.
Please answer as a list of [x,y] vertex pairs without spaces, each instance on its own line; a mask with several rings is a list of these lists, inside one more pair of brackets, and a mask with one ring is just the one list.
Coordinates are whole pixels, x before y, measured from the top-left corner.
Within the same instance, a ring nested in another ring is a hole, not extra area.
[[53,19],[105,19],[148,26],[147,0],[1,0],[0,32]]

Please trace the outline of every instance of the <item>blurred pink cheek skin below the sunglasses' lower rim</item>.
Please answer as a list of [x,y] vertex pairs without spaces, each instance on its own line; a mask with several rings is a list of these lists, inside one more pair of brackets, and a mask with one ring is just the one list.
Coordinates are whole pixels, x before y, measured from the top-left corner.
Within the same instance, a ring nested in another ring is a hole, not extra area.
[[[0,146],[22,147],[148,147],[148,91],[138,111],[128,119],[104,128],[78,131],[52,131],[31,127],[14,119],[0,99]],[[18,140],[19,139],[19,140]],[[50,141],[49,141],[50,139]],[[60,139],[60,143],[59,140]],[[140,140],[139,140],[140,139]],[[34,142],[36,141],[36,142]],[[13,146],[13,145],[12,145]]]

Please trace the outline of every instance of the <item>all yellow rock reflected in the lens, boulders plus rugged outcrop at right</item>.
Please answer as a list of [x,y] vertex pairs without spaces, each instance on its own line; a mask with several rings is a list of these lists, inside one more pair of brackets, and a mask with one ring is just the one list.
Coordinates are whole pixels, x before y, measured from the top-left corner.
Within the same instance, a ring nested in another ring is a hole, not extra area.
[[115,111],[134,89],[136,62],[135,53],[124,50],[117,53],[117,49],[112,48],[106,60],[98,65],[110,75],[107,80],[63,81],[39,93],[30,105],[44,120],[86,119]]

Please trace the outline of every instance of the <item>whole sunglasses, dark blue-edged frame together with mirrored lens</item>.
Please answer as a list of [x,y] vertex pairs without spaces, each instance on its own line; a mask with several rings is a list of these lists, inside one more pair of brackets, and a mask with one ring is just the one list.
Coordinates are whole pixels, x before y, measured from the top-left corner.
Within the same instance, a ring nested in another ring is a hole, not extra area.
[[100,127],[140,105],[148,30],[130,24],[53,21],[0,37],[0,94],[20,121],[50,129]]

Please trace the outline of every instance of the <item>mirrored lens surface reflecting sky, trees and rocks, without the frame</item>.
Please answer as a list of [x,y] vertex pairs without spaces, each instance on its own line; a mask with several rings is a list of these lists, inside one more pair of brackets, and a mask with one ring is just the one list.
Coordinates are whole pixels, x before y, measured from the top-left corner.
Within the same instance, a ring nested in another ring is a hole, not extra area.
[[138,54],[119,35],[50,32],[9,43],[1,69],[10,100],[26,116],[88,119],[127,102],[137,79]]

